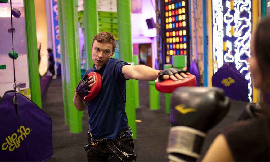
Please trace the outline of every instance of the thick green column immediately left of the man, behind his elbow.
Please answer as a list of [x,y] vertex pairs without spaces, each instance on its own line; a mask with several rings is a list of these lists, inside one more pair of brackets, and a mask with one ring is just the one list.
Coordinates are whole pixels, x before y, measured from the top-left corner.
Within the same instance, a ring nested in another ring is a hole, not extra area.
[[[79,54],[79,29],[76,0],[61,1],[62,21],[63,21],[63,45],[65,48],[65,75],[66,94],[69,117],[70,132],[79,133],[82,131],[82,112],[79,112],[74,103],[74,90],[81,79],[80,54]],[[60,29],[61,30],[61,29]]]

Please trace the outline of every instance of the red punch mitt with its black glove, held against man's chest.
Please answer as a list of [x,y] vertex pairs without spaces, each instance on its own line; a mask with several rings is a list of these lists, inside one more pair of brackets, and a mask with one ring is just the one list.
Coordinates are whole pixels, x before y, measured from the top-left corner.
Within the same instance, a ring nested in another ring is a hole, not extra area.
[[[93,76],[94,79],[93,86],[88,86],[89,77]],[[101,89],[102,80],[101,75],[96,72],[91,72],[88,75],[85,75],[83,79],[79,82],[78,86],[76,87],[76,93],[80,96],[81,100],[90,101],[95,98],[98,92]],[[90,93],[88,93],[90,91]]]

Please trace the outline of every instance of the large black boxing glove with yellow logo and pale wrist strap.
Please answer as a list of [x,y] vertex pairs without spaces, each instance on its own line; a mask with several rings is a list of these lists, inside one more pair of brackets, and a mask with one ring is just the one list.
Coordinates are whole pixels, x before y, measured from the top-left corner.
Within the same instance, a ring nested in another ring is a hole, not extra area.
[[230,100],[221,88],[179,87],[171,98],[169,160],[200,158],[206,132],[227,114]]

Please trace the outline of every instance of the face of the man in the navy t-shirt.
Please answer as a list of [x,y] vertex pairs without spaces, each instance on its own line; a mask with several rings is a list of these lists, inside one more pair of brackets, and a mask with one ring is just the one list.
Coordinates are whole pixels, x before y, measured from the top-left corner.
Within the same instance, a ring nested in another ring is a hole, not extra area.
[[113,56],[112,45],[109,43],[98,43],[96,40],[92,45],[92,59],[96,69],[100,69]]

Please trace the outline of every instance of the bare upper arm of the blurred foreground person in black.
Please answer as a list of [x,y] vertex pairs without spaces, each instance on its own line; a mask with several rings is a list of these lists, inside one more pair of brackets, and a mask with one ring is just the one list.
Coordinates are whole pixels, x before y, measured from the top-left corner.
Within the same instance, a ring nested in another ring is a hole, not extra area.
[[235,161],[223,134],[219,134],[214,139],[202,161]]

